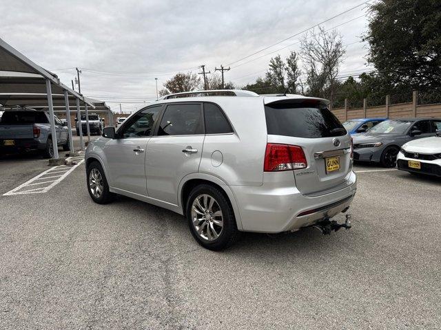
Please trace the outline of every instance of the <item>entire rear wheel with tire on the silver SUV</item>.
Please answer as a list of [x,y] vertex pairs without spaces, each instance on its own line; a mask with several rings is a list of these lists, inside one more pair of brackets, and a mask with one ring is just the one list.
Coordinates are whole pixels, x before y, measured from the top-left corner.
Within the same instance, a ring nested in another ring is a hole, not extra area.
[[[208,250],[224,250],[240,235],[231,203],[223,192],[209,184],[196,186],[190,192],[186,216],[194,239]],[[203,220],[197,220],[197,216]]]

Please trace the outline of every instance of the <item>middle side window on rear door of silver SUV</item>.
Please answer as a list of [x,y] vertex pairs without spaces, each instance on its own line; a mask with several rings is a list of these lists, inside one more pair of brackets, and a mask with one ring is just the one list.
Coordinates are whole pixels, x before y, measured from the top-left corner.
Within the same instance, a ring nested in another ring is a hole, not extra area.
[[201,104],[170,104],[165,109],[158,135],[203,134]]

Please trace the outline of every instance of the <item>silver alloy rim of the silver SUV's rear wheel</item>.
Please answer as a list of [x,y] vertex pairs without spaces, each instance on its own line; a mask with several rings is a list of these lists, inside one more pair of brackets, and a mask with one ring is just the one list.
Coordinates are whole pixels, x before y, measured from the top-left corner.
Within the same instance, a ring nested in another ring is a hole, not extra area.
[[223,214],[216,199],[207,194],[198,195],[192,203],[192,223],[203,239],[217,239],[223,230]]

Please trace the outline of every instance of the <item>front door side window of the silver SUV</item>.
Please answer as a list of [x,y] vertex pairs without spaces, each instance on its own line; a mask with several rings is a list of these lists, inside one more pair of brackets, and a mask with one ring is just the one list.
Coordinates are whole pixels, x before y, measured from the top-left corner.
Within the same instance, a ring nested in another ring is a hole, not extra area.
[[150,107],[139,113],[136,113],[130,122],[124,125],[121,131],[121,137],[145,137],[152,135],[153,126],[158,119],[158,113],[162,106]]

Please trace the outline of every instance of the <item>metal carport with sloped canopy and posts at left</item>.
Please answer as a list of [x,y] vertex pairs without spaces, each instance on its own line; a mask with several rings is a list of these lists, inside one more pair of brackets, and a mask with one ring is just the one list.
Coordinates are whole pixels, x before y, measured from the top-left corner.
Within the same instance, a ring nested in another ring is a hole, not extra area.
[[[63,85],[57,75],[35,64],[3,39],[0,39],[0,104],[5,109],[14,107],[47,108],[50,114],[55,159],[59,158],[59,153],[54,124],[54,107],[65,109],[68,126],[71,128],[69,105],[71,101],[76,102],[78,118],[81,118],[81,105],[84,107],[89,131],[88,107],[95,109],[94,104],[81,94]],[[71,129],[69,129],[69,139],[70,149],[73,151]],[[83,148],[83,144],[81,144],[81,148]]]

